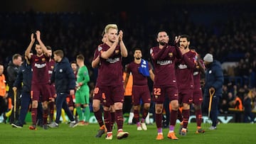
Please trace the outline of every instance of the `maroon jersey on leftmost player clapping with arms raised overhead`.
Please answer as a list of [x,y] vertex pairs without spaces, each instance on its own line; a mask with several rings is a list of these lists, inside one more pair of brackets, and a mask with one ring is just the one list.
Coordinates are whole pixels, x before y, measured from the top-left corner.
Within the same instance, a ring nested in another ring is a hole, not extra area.
[[38,57],[37,55],[31,56],[31,66],[33,70],[32,74],[32,84],[48,84],[50,77],[48,74],[49,57],[42,55]]

